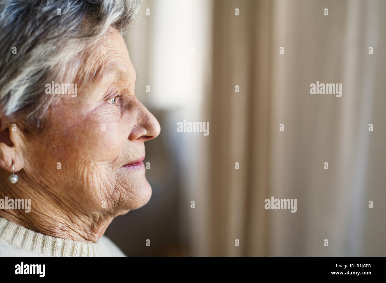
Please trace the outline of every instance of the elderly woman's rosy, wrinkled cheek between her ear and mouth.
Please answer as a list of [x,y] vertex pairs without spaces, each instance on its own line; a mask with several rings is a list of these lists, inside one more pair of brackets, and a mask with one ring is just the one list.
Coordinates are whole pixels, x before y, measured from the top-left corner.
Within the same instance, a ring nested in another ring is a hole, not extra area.
[[96,115],[71,124],[55,139],[52,157],[62,163],[60,182],[66,184],[68,196],[87,200],[85,209],[90,211],[101,201],[111,203],[120,180],[112,168],[127,143],[127,125]]

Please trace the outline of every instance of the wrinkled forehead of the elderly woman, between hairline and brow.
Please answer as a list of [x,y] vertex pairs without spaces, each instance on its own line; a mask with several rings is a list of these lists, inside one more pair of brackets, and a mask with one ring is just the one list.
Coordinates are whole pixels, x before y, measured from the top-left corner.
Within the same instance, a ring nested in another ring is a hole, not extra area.
[[119,80],[135,80],[136,72],[125,41],[114,28],[108,28],[102,37],[88,45],[81,58],[77,75],[81,83],[102,80],[107,74]]

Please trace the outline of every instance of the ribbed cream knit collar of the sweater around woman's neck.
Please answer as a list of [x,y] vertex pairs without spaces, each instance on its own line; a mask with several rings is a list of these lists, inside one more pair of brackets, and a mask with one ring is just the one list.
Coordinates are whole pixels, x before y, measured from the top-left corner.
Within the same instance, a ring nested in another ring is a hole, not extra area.
[[15,248],[46,256],[111,256],[101,241],[84,243],[56,238],[29,230],[0,217],[0,240]]

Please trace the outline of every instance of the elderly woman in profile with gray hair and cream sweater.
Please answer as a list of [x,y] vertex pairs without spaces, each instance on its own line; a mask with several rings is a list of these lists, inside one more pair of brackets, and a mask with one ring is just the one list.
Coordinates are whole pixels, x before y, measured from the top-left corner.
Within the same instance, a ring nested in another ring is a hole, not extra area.
[[122,32],[134,0],[0,2],[0,256],[124,256],[103,236],[149,201]]

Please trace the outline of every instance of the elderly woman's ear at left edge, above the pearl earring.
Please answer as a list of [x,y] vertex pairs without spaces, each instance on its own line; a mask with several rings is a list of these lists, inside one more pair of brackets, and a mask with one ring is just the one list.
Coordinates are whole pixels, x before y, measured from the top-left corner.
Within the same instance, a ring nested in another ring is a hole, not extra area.
[[21,152],[22,130],[15,123],[0,120],[0,167],[12,172],[12,162],[15,172],[24,166],[23,154]]

